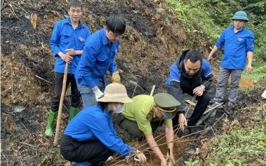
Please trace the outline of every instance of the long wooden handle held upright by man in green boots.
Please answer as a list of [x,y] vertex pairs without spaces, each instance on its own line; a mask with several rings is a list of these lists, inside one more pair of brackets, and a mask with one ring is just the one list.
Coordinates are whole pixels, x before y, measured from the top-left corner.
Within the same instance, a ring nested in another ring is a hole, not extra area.
[[64,79],[63,79],[63,84],[62,84],[62,93],[60,97],[60,104],[59,104],[58,115],[57,115],[55,140],[54,140],[55,146],[58,145],[58,134],[59,134],[59,128],[60,128],[60,122],[61,122],[62,108],[63,108],[64,98],[65,98],[65,89],[66,89],[66,84],[67,84],[67,72],[68,72],[68,63],[65,64]]

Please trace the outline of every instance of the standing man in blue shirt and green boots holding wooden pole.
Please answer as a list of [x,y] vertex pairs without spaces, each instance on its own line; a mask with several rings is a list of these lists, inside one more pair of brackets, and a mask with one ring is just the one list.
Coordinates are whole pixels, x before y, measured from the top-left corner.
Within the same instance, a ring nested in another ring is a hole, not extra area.
[[67,74],[67,86],[71,84],[71,107],[70,119],[77,114],[77,107],[80,103],[80,94],[74,79],[74,71],[82,55],[82,49],[86,38],[90,35],[89,28],[80,22],[82,18],[82,4],[79,1],[70,1],[67,6],[69,18],[57,21],[50,38],[52,53],[56,57],[55,62],[55,92],[52,96],[50,111],[48,114],[48,123],[45,129],[45,135],[52,135],[52,126],[57,115],[62,92],[62,82],[66,63],[69,64]]

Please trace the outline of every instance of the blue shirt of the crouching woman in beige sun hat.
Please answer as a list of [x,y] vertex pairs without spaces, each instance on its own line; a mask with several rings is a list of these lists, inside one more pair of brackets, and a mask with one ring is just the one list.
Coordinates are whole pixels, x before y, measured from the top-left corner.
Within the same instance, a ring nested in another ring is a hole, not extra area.
[[82,140],[99,140],[110,150],[127,156],[134,150],[131,146],[123,143],[113,128],[111,114],[107,109],[101,110],[99,104],[88,106],[79,111],[64,131],[65,135]]

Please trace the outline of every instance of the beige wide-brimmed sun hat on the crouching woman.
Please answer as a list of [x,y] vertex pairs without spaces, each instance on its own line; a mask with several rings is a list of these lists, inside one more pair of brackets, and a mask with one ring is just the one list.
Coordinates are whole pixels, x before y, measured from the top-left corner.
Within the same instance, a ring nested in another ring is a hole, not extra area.
[[100,102],[118,102],[118,103],[130,103],[133,100],[128,97],[126,93],[126,87],[123,84],[112,83],[106,86],[104,95],[97,101]]

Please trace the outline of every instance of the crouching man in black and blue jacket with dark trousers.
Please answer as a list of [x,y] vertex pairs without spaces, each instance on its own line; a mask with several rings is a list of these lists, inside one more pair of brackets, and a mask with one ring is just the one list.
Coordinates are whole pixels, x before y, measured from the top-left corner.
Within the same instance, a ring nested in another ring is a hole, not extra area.
[[[172,119],[175,132],[178,131],[178,124],[182,131],[184,131],[185,125],[189,126],[190,133],[198,130],[196,122],[199,121],[209,104],[210,96],[206,90],[210,88],[212,79],[211,66],[209,62],[202,58],[199,51],[185,50],[172,64],[170,76],[167,79],[167,88],[169,93],[181,103],[178,114]],[[195,96],[197,100],[188,122],[184,117],[184,106],[182,104],[184,93]]]

